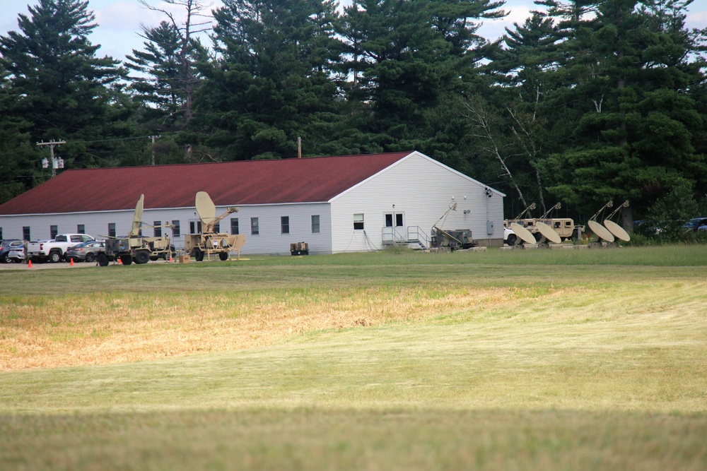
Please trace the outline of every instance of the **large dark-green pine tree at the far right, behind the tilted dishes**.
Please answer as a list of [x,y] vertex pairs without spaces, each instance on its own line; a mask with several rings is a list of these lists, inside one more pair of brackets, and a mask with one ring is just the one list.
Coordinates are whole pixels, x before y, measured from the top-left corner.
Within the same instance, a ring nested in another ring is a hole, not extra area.
[[551,191],[565,201],[629,199],[645,213],[672,188],[705,177],[693,92],[705,77],[684,30],[684,4],[669,3],[666,15],[652,1],[603,1],[591,28],[573,39],[568,82],[555,99],[571,98],[580,115],[571,145],[545,162]]

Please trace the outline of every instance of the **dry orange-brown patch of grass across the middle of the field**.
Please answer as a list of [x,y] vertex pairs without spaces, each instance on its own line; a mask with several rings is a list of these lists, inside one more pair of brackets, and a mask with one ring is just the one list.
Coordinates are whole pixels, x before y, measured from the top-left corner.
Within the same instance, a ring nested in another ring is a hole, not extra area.
[[[522,296],[522,294],[520,294]],[[380,326],[518,300],[511,288],[411,287],[241,294],[74,295],[0,305],[0,370],[135,362],[272,345],[323,329]]]

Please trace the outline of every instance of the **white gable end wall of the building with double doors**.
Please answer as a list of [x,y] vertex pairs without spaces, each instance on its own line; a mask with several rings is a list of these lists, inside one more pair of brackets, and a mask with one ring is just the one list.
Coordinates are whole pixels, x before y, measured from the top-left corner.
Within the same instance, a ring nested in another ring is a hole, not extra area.
[[[429,237],[431,227],[450,208],[443,229],[471,229],[474,240],[503,241],[503,196],[423,155],[410,157],[385,169],[332,201],[333,251],[366,251],[382,247],[386,213],[403,213],[404,227],[419,226]],[[452,196],[454,200],[452,200]],[[395,205],[395,207],[394,207]],[[464,214],[464,210],[469,210]],[[365,234],[354,230],[354,214],[363,213]],[[493,223],[487,234],[486,221]]]

